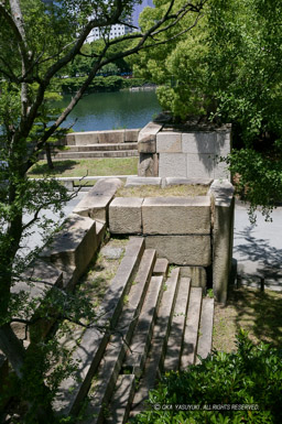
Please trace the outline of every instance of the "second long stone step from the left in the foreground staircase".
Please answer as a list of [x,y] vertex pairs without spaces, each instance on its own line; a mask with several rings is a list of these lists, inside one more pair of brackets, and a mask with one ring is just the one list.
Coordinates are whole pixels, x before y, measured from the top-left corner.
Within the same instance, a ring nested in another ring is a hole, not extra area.
[[132,283],[122,314],[115,326],[115,334],[109,340],[97,376],[93,380],[89,394],[86,418],[84,424],[102,423],[104,405],[110,401],[126,350],[131,341],[138,324],[138,317],[144,303],[149,281],[152,275],[156,253],[145,250],[140,262],[138,274]]

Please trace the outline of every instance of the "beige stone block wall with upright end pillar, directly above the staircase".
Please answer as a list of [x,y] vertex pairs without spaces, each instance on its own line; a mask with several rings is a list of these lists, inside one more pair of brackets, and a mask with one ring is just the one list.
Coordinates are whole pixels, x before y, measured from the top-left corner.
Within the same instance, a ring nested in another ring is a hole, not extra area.
[[[134,184],[160,185],[155,178],[130,178]],[[166,180],[166,178],[165,178]],[[188,180],[187,180],[188,181]],[[213,270],[216,298],[225,303],[231,267],[234,187],[215,181],[207,196],[197,197],[116,197],[109,205],[109,230],[112,235],[141,235],[147,248],[156,249],[160,258],[187,267],[197,284],[206,282]]]

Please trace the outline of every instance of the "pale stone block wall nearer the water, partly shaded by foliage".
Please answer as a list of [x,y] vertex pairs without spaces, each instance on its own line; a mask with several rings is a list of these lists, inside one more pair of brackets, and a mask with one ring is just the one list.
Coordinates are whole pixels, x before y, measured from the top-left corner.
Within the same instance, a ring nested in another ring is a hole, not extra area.
[[140,176],[191,178],[210,183],[230,180],[226,163],[219,162],[231,149],[231,128],[212,130],[177,130],[150,122],[139,132]]

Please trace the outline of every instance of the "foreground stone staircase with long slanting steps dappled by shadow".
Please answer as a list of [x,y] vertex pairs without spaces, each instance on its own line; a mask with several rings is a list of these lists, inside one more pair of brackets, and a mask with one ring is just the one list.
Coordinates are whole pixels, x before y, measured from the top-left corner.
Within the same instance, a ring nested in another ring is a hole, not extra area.
[[100,318],[73,354],[77,379],[62,384],[54,403],[58,414],[77,414],[87,395],[84,424],[126,423],[142,411],[161,372],[208,355],[214,300],[203,298],[180,268],[169,276],[167,271],[167,260],[144,249],[143,238],[129,240]]

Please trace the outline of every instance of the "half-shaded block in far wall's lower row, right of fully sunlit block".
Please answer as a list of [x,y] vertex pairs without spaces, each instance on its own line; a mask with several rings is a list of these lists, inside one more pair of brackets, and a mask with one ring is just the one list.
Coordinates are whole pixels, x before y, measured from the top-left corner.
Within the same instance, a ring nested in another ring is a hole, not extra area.
[[187,154],[187,177],[214,180],[215,155],[209,153]]

